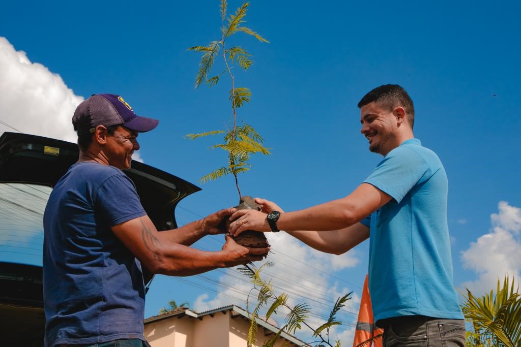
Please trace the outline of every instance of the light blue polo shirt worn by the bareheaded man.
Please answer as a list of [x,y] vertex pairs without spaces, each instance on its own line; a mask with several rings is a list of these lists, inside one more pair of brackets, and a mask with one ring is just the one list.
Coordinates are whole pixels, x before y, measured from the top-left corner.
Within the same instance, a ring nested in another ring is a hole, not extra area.
[[375,322],[408,315],[463,319],[453,285],[448,181],[436,153],[408,139],[364,183],[393,198],[362,221],[370,227]]

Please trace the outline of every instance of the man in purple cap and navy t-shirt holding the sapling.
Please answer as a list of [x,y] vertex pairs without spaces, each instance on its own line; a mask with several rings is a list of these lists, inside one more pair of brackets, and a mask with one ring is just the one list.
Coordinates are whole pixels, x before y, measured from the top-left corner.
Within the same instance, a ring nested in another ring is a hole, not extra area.
[[230,237],[219,252],[187,247],[234,212],[218,211],[158,233],[144,211],[130,168],[140,132],[157,120],[140,117],[114,94],[93,95],[72,118],[80,156],[53,188],[44,213],[45,346],[142,346],[150,272],[188,276],[261,260]]

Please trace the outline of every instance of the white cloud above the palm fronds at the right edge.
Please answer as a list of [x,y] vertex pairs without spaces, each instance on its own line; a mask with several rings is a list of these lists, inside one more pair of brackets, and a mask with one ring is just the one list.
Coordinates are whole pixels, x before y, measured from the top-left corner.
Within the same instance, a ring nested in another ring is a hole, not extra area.
[[464,283],[475,295],[488,292],[508,274],[519,280],[521,273],[521,209],[500,201],[499,213],[490,216],[492,229],[461,252],[463,266],[478,274]]

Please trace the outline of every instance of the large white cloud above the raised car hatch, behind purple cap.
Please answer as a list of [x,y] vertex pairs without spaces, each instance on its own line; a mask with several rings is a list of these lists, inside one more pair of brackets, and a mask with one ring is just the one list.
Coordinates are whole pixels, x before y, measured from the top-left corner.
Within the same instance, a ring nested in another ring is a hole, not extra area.
[[[23,133],[76,142],[71,118],[83,97],[0,36],[0,120]],[[0,124],[0,133],[14,131]]]

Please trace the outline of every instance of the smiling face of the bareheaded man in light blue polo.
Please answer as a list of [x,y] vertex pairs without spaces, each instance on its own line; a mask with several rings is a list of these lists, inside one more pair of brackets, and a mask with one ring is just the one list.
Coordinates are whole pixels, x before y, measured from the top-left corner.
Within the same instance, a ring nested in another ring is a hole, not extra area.
[[370,102],[360,108],[360,122],[360,132],[369,141],[371,152],[385,156],[400,145],[399,142],[396,143],[398,124],[393,111],[389,112],[375,102]]

